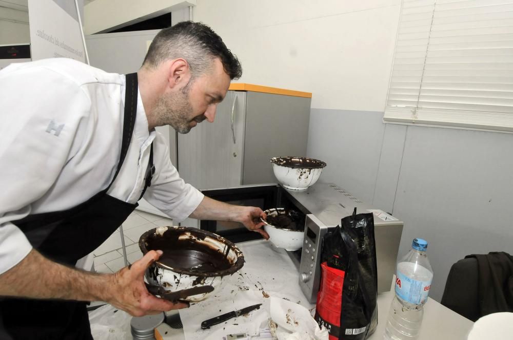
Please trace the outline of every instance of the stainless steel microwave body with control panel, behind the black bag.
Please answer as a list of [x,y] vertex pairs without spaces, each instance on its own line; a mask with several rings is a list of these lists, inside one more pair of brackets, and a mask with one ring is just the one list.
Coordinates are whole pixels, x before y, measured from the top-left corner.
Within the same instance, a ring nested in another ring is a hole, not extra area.
[[[314,302],[317,300],[321,280],[319,250],[322,248],[321,242],[325,233],[340,225],[340,220],[351,215],[354,207],[357,208],[357,213],[369,213],[368,210],[373,208],[331,183],[316,183],[306,190],[287,190],[287,193],[311,213],[306,219],[299,284],[307,298]],[[308,236],[308,230],[310,235],[315,235],[314,238]],[[396,270],[402,231],[403,222],[383,221],[374,215],[379,293],[390,290],[389,283]],[[307,277],[309,279],[305,281]]]

